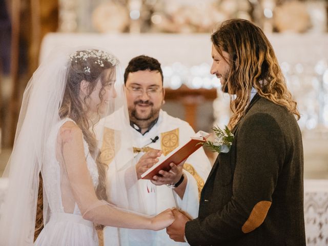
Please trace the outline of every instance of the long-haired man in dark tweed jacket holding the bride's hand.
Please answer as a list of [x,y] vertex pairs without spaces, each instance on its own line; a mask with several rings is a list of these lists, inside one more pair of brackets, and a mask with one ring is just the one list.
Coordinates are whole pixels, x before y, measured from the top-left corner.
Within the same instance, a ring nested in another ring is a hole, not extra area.
[[234,140],[214,163],[198,218],[174,210],[167,233],[190,245],[305,245],[300,115],[273,48],[242,19],[222,23],[211,40]]

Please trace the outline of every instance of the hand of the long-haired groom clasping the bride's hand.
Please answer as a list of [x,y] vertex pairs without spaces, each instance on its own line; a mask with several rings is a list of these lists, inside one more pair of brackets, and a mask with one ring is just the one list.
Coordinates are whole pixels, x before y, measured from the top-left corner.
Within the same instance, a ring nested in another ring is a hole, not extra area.
[[186,223],[190,220],[187,216],[182,214],[177,209],[172,210],[175,217],[174,222],[166,229],[170,238],[176,242],[185,242],[185,228]]

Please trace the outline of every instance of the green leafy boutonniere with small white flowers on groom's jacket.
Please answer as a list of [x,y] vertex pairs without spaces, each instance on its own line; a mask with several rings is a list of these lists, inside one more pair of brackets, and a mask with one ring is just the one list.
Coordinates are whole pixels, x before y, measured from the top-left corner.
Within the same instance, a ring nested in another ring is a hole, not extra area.
[[232,141],[234,140],[234,134],[226,126],[224,130],[221,130],[218,126],[212,127],[215,134],[214,141],[206,141],[205,146],[209,147],[213,152],[228,153],[230,151]]

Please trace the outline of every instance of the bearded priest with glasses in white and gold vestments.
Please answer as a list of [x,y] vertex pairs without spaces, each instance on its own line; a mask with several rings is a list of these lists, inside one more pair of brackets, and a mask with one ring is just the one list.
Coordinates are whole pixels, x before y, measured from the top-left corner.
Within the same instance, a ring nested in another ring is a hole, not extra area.
[[[168,155],[195,136],[194,130],[186,121],[161,110],[165,89],[160,63],[149,56],[137,56],[129,62],[124,80],[130,125],[125,130],[122,130],[122,126],[116,126],[115,129],[111,122],[117,120],[110,120],[115,116],[107,117],[107,128],[101,142],[101,152],[105,156],[103,160],[109,167],[109,200],[133,212],[155,215],[176,207],[185,211],[191,218],[196,218],[199,194],[211,170],[209,159],[202,148],[178,165],[171,163],[172,169],[169,172],[161,170],[160,175],[154,176],[152,180],[143,180],[140,177],[158,161],[159,155]],[[129,144],[132,144],[132,168],[131,165],[126,165],[126,161],[113,160],[111,155],[106,155],[113,152],[111,149],[114,147],[109,140],[113,134],[125,136],[126,140],[122,138],[120,147],[115,147],[115,151],[121,152],[122,155],[128,152]],[[125,185],[119,183],[122,179],[125,180]],[[188,245],[174,242],[165,230],[153,232],[111,227],[104,229],[104,242],[105,245],[133,246]]]

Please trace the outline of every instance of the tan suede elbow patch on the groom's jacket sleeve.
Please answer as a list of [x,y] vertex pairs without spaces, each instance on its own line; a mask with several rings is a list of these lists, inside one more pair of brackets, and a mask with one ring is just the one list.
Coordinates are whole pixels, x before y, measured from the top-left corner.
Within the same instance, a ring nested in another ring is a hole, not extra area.
[[250,217],[241,227],[241,231],[243,233],[249,233],[258,228],[263,223],[265,217],[267,217],[270,206],[271,201],[259,201],[256,203]]

